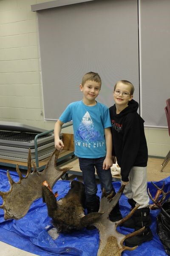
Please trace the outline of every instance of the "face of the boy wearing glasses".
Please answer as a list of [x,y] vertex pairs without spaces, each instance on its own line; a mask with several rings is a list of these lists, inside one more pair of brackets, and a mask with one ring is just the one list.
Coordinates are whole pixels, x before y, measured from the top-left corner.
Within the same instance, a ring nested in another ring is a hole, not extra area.
[[113,99],[116,105],[126,108],[128,102],[133,98],[133,95],[130,95],[130,92],[131,86],[129,84],[123,84],[122,82],[119,82],[113,91]]

